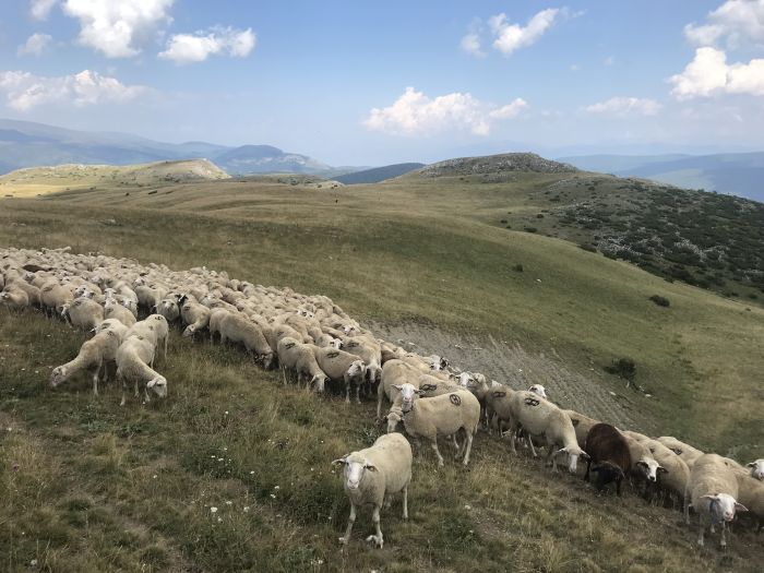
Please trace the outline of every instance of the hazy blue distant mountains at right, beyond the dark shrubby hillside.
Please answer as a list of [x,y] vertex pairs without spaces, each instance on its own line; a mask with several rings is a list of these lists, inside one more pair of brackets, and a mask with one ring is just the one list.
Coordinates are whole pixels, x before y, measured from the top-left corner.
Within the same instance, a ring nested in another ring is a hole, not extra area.
[[641,177],[764,202],[764,152],[714,155],[581,155],[560,160],[587,171]]

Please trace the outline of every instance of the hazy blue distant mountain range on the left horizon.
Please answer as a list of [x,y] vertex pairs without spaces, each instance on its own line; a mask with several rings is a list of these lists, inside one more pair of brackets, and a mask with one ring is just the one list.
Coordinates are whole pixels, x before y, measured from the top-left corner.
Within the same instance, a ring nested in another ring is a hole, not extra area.
[[61,164],[133,165],[204,157],[230,175],[286,171],[321,174],[332,168],[271,145],[229,147],[206,142],[163,143],[128,133],[74,131],[0,119],[0,172]]

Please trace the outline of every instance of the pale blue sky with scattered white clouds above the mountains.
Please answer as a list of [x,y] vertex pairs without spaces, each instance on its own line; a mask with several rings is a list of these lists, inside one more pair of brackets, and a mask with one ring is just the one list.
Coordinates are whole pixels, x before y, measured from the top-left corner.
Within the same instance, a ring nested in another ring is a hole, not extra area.
[[764,0],[2,0],[0,117],[330,165],[764,150]]

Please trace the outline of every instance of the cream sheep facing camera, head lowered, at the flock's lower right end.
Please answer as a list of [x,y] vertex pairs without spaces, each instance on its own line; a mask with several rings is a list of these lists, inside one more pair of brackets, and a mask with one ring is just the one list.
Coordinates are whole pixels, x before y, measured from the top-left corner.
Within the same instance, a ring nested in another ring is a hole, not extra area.
[[735,470],[725,458],[717,454],[703,454],[695,459],[684,493],[684,521],[690,523],[689,511],[692,506],[699,513],[699,546],[704,545],[704,515],[708,514],[711,533],[714,533],[716,524],[721,523],[720,546],[723,549],[727,547],[727,523],[735,518],[736,511],[748,511],[737,498],[738,480]]

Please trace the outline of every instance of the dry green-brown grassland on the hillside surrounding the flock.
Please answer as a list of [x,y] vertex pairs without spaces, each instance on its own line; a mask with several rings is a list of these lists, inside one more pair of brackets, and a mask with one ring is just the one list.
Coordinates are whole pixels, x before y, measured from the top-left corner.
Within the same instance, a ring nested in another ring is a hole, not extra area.
[[[324,294],[416,349],[515,387],[545,383],[563,406],[763,456],[764,311],[498,226],[534,217],[528,195],[561,179],[85,188],[1,200],[0,247],[205,264]],[[10,571],[33,559],[49,571],[761,569],[761,537],[736,528],[727,554],[697,551],[678,512],[598,497],[485,434],[470,471],[438,471],[425,452],[411,521],[394,503],[382,516],[385,548],[373,551],[361,513],[341,553],[348,506],[329,462],[373,441],[372,404],[283,389],[238,350],[177,335],[158,367],[170,381],[165,403],[120,409],[116,389],[93,398],[84,380],[50,391],[49,368],[82,339],[41,315],[3,318],[0,548]],[[643,391],[605,371],[624,357]]]

